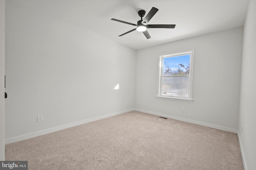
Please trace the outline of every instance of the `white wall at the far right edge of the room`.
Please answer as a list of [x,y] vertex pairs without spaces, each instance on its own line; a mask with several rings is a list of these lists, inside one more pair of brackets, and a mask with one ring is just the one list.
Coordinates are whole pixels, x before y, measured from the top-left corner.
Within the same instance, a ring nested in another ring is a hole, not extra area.
[[[256,0],[250,0],[244,25],[239,137],[247,170],[256,167]],[[243,126],[243,132],[241,127]]]

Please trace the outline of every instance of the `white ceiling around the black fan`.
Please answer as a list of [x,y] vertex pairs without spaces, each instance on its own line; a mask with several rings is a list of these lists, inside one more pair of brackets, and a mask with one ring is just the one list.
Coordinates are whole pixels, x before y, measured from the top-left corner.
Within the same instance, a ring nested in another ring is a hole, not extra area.
[[[244,25],[248,0],[13,0],[39,12],[68,21],[112,39],[132,49],[142,49],[196,35]],[[135,26],[110,20],[115,18],[137,24],[139,10],[152,7],[158,12],[148,24],[176,24],[174,29],[148,29],[118,35]]]

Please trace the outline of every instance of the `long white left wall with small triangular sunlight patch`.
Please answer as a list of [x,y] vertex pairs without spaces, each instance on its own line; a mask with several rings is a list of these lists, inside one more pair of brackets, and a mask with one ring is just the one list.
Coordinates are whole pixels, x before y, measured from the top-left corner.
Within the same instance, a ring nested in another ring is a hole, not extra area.
[[134,108],[135,57],[133,49],[7,1],[6,140]]

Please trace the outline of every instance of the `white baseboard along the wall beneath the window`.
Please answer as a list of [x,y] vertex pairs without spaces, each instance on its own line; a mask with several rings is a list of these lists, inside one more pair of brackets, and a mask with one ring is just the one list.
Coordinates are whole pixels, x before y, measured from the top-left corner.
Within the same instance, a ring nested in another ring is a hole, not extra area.
[[156,112],[147,111],[147,110],[142,110],[142,109],[134,109],[134,110],[135,110],[135,111],[144,112],[144,113],[149,113],[149,114],[152,114],[152,115],[158,115],[158,116],[162,116],[162,117],[167,117],[167,118],[170,118],[170,119],[176,119],[176,120],[180,120],[180,121],[185,121],[185,122],[188,122],[188,123],[194,123],[194,124],[196,124],[196,125],[202,125],[202,126],[206,126],[206,127],[212,127],[212,128],[214,128],[214,129],[219,129],[219,130],[222,130],[222,131],[228,131],[228,132],[237,133],[237,130],[236,130],[236,129],[231,129],[231,128],[228,128],[228,127],[222,127],[222,126],[218,126],[218,125],[212,125],[212,124],[209,124],[209,123],[204,123],[204,122],[200,122],[200,121],[194,121],[194,120],[190,120],[190,119],[184,119],[184,118],[181,118],[181,117],[166,115],[166,114],[162,114],[162,113],[156,113]]

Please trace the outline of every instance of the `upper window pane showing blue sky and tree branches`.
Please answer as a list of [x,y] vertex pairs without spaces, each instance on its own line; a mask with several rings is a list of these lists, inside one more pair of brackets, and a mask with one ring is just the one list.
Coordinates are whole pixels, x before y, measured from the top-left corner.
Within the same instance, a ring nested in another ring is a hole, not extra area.
[[188,75],[190,68],[190,55],[163,58],[164,76]]

